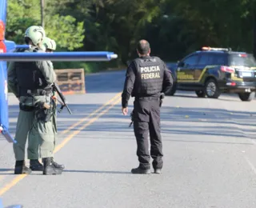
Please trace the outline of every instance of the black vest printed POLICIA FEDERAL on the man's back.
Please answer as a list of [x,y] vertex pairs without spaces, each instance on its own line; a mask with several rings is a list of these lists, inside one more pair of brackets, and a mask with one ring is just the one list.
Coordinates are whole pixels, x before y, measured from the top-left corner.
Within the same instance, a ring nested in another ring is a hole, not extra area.
[[132,97],[158,96],[162,91],[163,65],[158,57],[136,58]]

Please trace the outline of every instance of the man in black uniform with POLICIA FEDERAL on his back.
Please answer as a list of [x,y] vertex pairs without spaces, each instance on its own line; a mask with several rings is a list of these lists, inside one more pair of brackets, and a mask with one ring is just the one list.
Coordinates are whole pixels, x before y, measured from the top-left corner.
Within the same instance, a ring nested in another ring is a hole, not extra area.
[[[173,86],[173,78],[166,64],[158,57],[150,56],[150,44],[138,42],[139,58],[130,63],[122,92],[122,114],[128,113],[128,101],[134,97],[134,134],[137,140],[139,166],[133,174],[150,174],[150,155],[155,174],[162,170],[162,138],[160,133],[161,94],[167,94]],[[148,145],[150,133],[150,153]]]

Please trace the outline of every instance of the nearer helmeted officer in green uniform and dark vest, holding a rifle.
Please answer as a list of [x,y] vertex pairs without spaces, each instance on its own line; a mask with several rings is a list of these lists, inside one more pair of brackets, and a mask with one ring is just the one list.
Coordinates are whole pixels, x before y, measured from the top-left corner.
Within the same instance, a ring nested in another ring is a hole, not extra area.
[[[26,52],[39,52],[45,37],[42,26],[30,26],[25,33],[25,42],[30,45]],[[54,166],[54,133],[52,123],[49,122],[53,114],[51,99],[52,87],[56,81],[56,74],[51,62],[10,62],[8,67],[8,86],[19,100],[20,111],[16,126],[14,144],[15,169],[14,174],[30,174],[31,169],[25,164],[25,146],[28,134],[30,141],[39,141],[40,156],[44,163],[43,174],[61,174],[62,170]],[[28,154],[30,152],[28,151]],[[30,154],[33,158],[33,153]],[[38,158],[30,160],[30,166],[35,166]],[[40,166],[38,165],[38,169]]]

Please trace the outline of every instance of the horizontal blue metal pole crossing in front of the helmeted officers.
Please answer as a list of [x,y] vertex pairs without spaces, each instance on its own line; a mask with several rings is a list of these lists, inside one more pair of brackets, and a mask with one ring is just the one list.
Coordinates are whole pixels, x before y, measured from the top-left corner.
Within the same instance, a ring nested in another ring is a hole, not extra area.
[[54,53],[4,53],[0,54],[0,60],[9,62],[33,62],[35,60],[50,60],[50,61],[86,61],[86,62],[101,62],[110,61],[118,58],[113,52],[54,52]]

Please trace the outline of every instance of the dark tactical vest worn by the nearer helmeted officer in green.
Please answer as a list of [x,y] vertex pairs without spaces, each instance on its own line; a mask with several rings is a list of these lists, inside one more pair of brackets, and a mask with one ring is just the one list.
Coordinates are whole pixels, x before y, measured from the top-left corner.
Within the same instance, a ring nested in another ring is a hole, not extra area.
[[26,96],[28,91],[40,95],[46,88],[47,82],[35,62],[15,62],[14,67],[20,96]]

